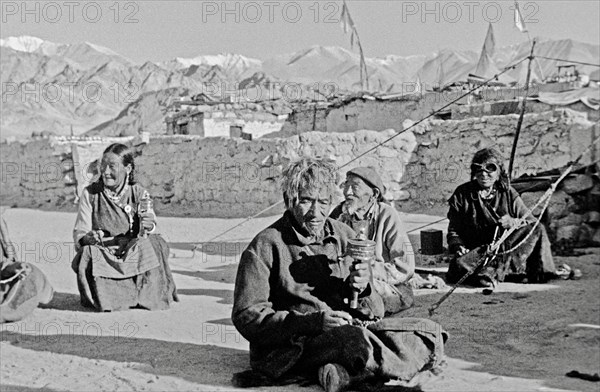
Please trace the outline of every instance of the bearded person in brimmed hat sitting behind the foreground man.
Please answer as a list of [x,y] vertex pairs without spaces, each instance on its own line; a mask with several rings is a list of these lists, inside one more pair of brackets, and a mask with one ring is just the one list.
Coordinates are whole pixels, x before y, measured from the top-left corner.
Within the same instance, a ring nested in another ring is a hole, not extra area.
[[367,238],[376,242],[373,277],[376,290],[388,294],[383,296],[386,311],[395,313],[411,307],[413,293],[406,282],[415,272],[414,253],[404,223],[384,198],[381,177],[372,167],[356,167],[346,173],[342,187],[345,201],[330,217],[356,232],[362,228]]

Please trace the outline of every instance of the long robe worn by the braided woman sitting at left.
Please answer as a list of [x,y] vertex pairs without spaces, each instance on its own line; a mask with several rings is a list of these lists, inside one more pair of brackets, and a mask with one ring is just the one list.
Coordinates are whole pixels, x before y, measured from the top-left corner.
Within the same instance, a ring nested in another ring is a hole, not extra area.
[[[104,311],[160,310],[178,300],[168,244],[157,234],[138,238],[136,211],[144,192],[139,184],[131,185],[115,202],[103,192],[101,182],[83,191],[73,231],[77,254],[72,268],[84,306]],[[79,240],[90,230],[103,230],[115,240],[105,246],[80,246]]]

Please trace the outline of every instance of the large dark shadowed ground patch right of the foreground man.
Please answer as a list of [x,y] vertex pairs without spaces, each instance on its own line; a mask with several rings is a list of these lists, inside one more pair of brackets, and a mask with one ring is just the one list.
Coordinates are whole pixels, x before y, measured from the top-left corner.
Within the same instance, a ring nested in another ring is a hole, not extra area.
[[598,390],[597,383],[566,377],[572,370],[600,370],[600,330],[572,326],[600,325],[597,257],[556,257],[557,265],[581,269],[583,278],[553,281],[554,290],[454,293],[431,317],[427,309],[444,293],[427,294],[416,297],[403,315],[440,323],[450,334],[446,354],[480,364],[474,371],[541,379],[552,388]]

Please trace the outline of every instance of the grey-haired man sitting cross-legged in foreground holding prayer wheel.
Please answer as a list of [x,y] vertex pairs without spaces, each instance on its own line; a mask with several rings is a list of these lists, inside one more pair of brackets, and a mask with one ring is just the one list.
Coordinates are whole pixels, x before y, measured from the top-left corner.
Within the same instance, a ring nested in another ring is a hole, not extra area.
[[[443,359],[441,326],[383,318],[370,263],[346,256],[356,234],[328,218],[337,178],[331,163],[292,163],[283,172],[285,213],[242,254],[232,320],[250,342],[253,371],[235,375],[237,386],[281,385],[301,376],[337,392],[409,381]],[[356,309],[348,301],[353,292]]]

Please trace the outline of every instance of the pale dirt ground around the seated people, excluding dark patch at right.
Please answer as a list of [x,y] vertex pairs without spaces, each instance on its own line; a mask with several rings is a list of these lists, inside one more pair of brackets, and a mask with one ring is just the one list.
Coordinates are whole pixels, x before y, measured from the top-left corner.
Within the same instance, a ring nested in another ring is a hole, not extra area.
[[[403,217],[409,229],[440,219]],[[55,296],[27,319],[0,327],[0,390],[236,390],[232,374],[249,367],[248,343],[229,319],[237,260],[276,217],[246,223],[212,243],[205,241],[241,220],[160,218],[181,300],[166,311],[114,313],[79,305],[70,268],[74,213],[8,209],[4,218],[20,259],[46,273]],[[203,252],[191,251],[195,243],[203,243]],[[441,375],[424,378],[423,390],[600,390],[598,382],[565,376],[571,370],[600,372],[600,254],[595,252],[556,258],[582,270],[578,281],[506,283],[489,296],[458,289],[432,316],[450,333],[448,359]],[[406,315],[428,317],[427,308],[444,292],[419,290]]]

